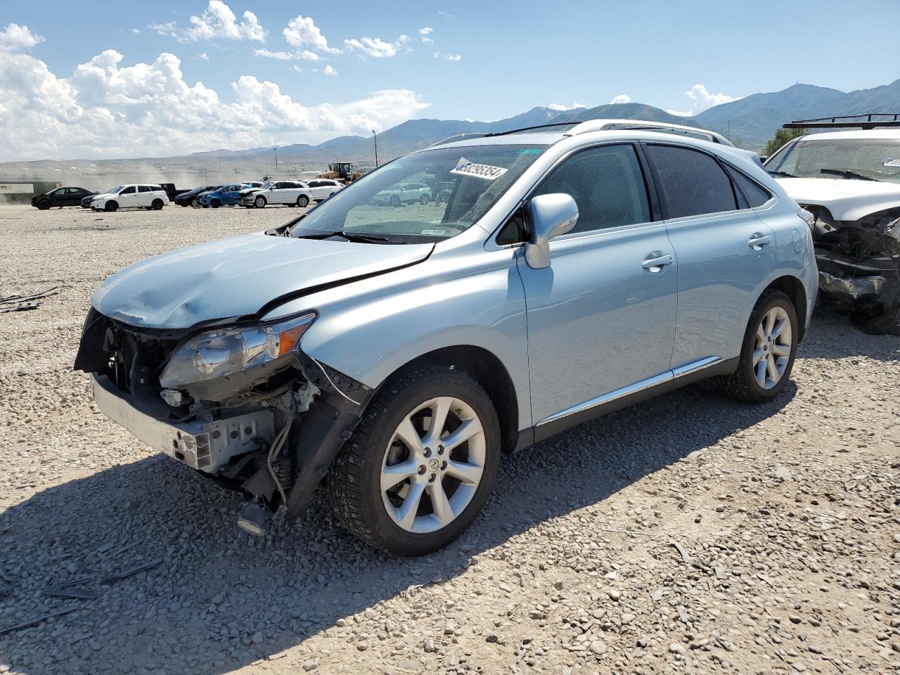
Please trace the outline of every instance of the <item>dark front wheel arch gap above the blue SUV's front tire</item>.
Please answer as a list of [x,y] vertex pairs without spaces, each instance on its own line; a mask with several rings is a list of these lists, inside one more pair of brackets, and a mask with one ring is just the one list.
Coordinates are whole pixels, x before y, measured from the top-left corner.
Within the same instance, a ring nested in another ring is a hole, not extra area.
[[[471,375],[487,392],[500,419],[500,440],[504,453],[518,444],[518,396],[509,371],[500,358],[484,347],[457,345],[441,347],[412,359],[397,368],[388,379],[421,365],[443,365]],[[385,381],[386,382],[386,381]]]

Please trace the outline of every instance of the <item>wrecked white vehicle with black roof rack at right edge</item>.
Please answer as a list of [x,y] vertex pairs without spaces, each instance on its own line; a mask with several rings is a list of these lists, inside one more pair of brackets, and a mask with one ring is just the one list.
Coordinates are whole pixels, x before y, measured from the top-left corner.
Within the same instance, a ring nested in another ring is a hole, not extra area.
[[900,335],[900,121],[860,117],[869,119],[785,125],[863,128],[801,136],[765,168],[815,216],[823,298],[849,309],[861,329]]

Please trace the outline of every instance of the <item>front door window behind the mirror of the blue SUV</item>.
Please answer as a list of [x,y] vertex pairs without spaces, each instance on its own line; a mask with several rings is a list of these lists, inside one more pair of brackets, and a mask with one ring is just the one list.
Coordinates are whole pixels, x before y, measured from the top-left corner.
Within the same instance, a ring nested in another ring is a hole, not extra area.
[[631,145],[589,148],[564,159],[534,196],[551,193],[571,194],[578,204],[572,232],[651,220],[644,173]]

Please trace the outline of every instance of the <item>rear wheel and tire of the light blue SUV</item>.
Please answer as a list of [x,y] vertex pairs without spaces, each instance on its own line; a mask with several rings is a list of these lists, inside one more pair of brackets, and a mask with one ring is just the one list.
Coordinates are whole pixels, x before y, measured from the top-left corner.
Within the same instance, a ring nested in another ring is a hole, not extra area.
[[797,311],[788,295],[763,293],[750,315],[737,370],[716,378],[719,390],[747,403],[774,399],[788,384],[798,336]]

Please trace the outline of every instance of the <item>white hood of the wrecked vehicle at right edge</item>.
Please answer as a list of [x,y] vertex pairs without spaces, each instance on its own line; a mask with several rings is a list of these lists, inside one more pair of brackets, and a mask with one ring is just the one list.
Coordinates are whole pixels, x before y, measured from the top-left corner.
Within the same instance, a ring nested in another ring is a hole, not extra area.
[[859,220],[876,211],[900,207],[900,184],[846,178],[779,178],[799,204],[824,206],[834,220]]

